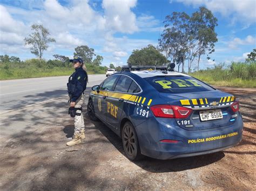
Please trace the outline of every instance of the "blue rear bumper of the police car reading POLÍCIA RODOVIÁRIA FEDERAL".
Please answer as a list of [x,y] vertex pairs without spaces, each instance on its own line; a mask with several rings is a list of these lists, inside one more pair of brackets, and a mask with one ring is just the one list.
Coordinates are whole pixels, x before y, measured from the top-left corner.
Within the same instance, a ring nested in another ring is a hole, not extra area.
[[[242,139],[242,118],[228,126],[216,129],[187,131],[174,119],[152,117],[136,126],[142,154],[157,159],[173,159],[223,151],[237,145]],[[162,143],[160,140],[178,140]]]

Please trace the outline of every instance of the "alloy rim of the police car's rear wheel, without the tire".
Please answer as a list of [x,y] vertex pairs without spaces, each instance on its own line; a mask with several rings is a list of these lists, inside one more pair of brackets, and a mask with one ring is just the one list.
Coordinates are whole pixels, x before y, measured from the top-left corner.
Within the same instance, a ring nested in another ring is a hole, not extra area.
[[124,129],[124,146],[129,155],[133,155],[136,152],[136,139],[130,126],[126,126]]

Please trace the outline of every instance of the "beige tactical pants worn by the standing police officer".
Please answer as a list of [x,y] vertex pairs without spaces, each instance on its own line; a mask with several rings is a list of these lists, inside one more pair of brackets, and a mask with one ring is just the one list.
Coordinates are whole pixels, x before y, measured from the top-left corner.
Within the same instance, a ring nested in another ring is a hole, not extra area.
[[[75,108],[82,108],[82,105],[84,103],[85,95],[82,94],[76,101]],[[84,130],[84,117],[81,110],[77,110],[75,116],[75,134],[80,133],[81,130]]]

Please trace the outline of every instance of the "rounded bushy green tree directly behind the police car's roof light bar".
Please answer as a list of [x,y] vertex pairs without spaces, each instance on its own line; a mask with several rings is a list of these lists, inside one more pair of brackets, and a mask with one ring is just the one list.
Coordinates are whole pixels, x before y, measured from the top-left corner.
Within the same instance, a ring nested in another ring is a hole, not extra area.
[[142,49],[134,49],[130,55],[127,63],[131,65],[140,66],[154,66],[154,65],[165,65],[169,60],[158,51],[153,45],[147,45]]

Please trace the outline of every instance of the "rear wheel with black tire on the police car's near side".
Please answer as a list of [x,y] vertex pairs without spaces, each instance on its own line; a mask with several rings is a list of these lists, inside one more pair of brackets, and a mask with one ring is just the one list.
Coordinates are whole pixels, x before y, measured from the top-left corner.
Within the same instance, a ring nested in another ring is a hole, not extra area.
[[126,122],[124,124],[122,141],[124,151],[128,159],[136,161],[143,158],[143,155],[140,152],[137,133],[131,122]]

